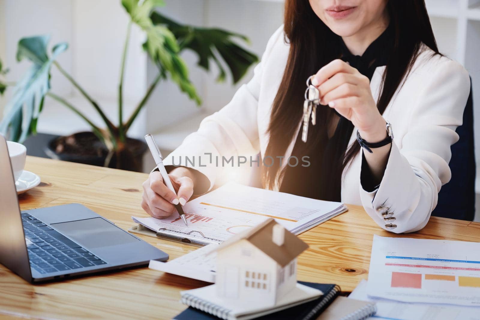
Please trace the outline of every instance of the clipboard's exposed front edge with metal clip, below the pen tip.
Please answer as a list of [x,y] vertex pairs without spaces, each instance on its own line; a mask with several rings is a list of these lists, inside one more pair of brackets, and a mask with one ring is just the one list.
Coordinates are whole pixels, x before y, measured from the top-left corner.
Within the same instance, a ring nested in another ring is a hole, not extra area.
[[166,228],[160,228],[157,231],[154,231],[141,224],[130,227],[128,231],[136,233],[138,235],[187,243],[196,247],[203,247],[212,243],[220,244],[223,242],[219,239],[205,237],[204,234],[200,231],[191,231],[190,233],[184,233],[180,231],[168,230]]

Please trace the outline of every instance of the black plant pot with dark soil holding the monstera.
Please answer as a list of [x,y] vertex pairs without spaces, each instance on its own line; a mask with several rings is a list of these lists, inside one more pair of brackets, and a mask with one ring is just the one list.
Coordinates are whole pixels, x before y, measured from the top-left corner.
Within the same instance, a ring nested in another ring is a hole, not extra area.
[[[146,151],[145,142],[127,138],[123,148],[113,154],[108,167],[143,172]],[[78,132],[50,140],[45,153],[52,159],[104,166],[108,149],[93,132]]]

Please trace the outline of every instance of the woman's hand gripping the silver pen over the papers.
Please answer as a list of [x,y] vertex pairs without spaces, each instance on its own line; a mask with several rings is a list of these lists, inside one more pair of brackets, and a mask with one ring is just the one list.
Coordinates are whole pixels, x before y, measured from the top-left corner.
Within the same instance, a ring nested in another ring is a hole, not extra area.
[[158,171],[150,173],[143,183],[142,208],[154,218],[167,218],[176,211],[176,204],[180,203],[183,206],[192,197],[193,176],[190,170],[177,167],[168,176],[178,197],[168,189]]

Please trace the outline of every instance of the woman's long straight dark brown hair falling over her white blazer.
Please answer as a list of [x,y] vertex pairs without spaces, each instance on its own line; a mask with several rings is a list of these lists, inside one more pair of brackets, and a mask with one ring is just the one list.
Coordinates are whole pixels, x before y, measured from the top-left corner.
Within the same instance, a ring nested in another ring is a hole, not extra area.
[[[396,90],[401,87],[403,79],[408,76],[422,44],[430,47],[435,54],[439,53],[424,0],[388,0],[386,10],[390,16],[390,26],[393,28],[395,39],[377,103],[381,114],[384,113]],[[303,112],[305,80],[340,56],[340,48],[332,46],[338,43],[339,36],[313,12],[308,0],[286,0],[284,23],[285,40],[289,42],[290,49],[287,66],[272,107],[267,131],[270,140],[265,151],[265,156],[270,155],[274,159],[276,156],[284,155],[292,138],[296,138]],[[308,143],[302,146],[302,154],[309,154],[312,150],[323,150],[325,141],[328,140],[327,128],[334,111],[328,107],[319,107],[317,113],[320,119],[318,129],[315,130],[314,136],[309,134]],[[337,176],[340,175],[338,181],[329,181],[338,184],[337,188],[330,186],[336,190],[340,190],[341,172],[360,151],[358,143],[353,143],[348,151],[347,142],[342,143],[345,143],[343,161],[330,162],[331,171],[336,172]],[[272,188],[275,185],[276,178],[283,174],[279,170],[279,162],[274,162],[270,167],[263,167],[264,187]]]

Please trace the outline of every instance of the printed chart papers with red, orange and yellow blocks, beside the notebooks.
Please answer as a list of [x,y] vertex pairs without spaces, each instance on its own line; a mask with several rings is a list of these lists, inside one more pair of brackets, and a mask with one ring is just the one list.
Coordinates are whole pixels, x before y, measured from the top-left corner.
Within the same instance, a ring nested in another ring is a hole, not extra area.
[[349,297],[376,302],[374,319],[480,320],[480,243],[375,235]]

